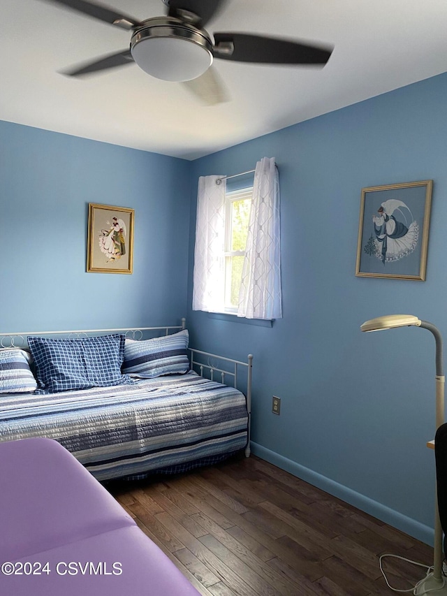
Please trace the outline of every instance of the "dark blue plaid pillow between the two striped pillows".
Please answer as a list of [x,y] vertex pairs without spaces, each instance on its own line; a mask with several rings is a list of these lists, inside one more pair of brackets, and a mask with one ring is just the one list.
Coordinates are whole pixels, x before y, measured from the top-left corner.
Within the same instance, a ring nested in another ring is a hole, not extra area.
[[124,341],[124,335],[79,340],[28,337],[39,388],[55,393],[133,383],[121,372]]

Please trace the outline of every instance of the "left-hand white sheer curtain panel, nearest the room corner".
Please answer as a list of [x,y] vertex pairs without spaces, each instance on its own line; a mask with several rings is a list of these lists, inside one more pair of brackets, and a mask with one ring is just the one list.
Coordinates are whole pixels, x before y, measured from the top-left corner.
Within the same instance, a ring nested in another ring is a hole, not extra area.
[[[217,179],[220,178],[220,184]],[[223,176],[198,180],[193,310],[223,312],[225,292],[225,194]]]

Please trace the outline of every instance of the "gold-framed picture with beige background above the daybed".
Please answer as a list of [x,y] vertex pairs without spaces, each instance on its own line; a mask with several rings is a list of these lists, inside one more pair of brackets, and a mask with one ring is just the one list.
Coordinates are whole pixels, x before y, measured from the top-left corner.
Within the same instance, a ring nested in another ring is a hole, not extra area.
[[131,273],[133,209],[89,203],[87,272]]

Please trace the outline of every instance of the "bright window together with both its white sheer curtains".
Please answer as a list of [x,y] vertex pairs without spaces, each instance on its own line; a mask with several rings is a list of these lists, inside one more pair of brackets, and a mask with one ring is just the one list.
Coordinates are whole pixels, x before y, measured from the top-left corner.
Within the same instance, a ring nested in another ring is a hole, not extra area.
[[225,176],[200,176],[193,310],[282,317],[279,224],[274,158],[258,161],[253,187],[238,191],[227,190]]

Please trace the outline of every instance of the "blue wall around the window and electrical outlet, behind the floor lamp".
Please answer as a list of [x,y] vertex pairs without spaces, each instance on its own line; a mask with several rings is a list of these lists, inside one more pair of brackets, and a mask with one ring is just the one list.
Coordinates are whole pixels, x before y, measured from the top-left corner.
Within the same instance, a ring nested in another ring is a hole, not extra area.
[[[447,75],[291,126],[193,163],[189,328],[203,349],[254,354],[255,452],[413,535],[434,516],[434,340],[447,337]],[[191,311],[196,181],[275,157],[284,319],[272,328]],[[355,276],[362,187],[434,180],[425,282]],[[281,416],[271,413],[282,398]]]

